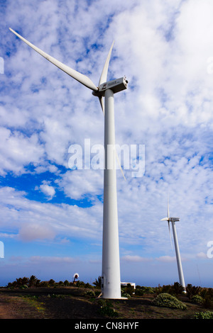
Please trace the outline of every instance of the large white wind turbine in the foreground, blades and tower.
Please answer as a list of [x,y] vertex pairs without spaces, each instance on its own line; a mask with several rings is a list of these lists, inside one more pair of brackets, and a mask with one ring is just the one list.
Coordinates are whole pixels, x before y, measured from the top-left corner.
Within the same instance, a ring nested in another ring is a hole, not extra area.
[[[52,62],[63,72],[76,79],[92,90],[92,94],[99,98],[104,113],[104,211],[103,211],[103,244],[102,244],[102,298],[121,298],[121,276],[119,259],[119,227],[116,196],[116,151],[114,129],[114,94],[127,88],[126,77],[107,81],[111,48],[104,64],[99,85],[96,86],[89,77],[68,67],[51,57],[38,47],[28,42],[21,35],[9,28],[18,38],[33,48],[40,55]],[[105,100],[105,101],[104,101]]]

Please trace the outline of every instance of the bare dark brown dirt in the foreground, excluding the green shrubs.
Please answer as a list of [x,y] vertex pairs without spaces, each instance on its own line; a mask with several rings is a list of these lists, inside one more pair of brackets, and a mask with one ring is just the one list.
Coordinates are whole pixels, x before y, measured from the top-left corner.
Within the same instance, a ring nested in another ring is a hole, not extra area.
[[86,291],[75,287],[0,288],[0,319],[192,319],[195,312],[207,310],[191,303],[186,295],[180,300],[187,310],[176,310],[154,306],[152,294],[107,301],[85,295]]

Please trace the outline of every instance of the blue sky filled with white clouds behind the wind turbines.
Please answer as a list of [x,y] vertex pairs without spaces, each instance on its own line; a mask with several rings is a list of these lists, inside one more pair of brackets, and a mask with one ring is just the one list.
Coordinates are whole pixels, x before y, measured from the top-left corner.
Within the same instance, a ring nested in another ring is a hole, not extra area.
[[117,170],[121,281],[178,281],[160,221],[169,195],[185,283],[212,287],[212,1],[0,4],[0,285],[102,273],[103,170],[69,164],[70,146],[104,144],[98,98],[11,27],[96,85],[114,40],[108,79],[129,81],[115,95],[116,143],[145,148],[141,176]]

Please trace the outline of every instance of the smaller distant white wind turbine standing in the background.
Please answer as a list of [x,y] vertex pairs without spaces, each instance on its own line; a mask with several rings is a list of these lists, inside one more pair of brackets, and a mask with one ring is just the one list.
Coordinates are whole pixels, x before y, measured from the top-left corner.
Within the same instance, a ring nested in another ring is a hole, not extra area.
[[180,221],[180,218],[170,218],[170,208],[169,208],[169,199],[168,199],[168,215],[167,218],[161,219],[161,221],[168,221],[168,228],[170,232],[170,222],[173,227],[173,237],[174,237],[174,243],[175,243],[175,254],[176,254],[176,259],[177,259],[177,264],[178,264],[178,275],[179,275],[179,281],[181,286],[184,288],[185,292],[185,280],[182,272],[182,264],[181,264],[181,259],[180,259],[180,250],[179,250],[179,245],[178,245],[178,236],[177,236],[177,231],[176,231],[176,226],[175,222]]

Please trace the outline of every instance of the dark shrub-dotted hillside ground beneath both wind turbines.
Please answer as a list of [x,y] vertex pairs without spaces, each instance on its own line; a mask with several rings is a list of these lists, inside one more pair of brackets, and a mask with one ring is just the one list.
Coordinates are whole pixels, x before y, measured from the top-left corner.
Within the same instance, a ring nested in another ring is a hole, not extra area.
[[104,300],[99,298],[99,286],[82,281],[65,284],[9,283],[0,288],[0,319],[202,319],[213,313],[212,288],[188,285],[184,294],[178,283],[136,290],[127,286],[122,292],[127,299]]

